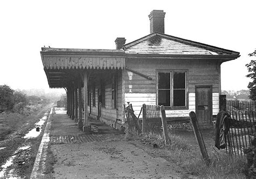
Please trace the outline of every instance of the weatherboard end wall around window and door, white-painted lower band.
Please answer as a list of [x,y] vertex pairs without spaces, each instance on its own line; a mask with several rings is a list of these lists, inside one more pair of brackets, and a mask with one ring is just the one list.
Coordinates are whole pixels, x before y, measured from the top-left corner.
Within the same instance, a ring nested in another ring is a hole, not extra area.
[[166,110],[167,117],[188,116],[190,111],[196,111],[196,85],[212,86],[212,114],[219,112],[219,63],[216,59],[126,59],[126,67],[139,74],[125,70],[125,102],[130,102],[134,113],[138,116],[143,104],[157,105],[157,71],[186,71],[187,98],[186,109]]

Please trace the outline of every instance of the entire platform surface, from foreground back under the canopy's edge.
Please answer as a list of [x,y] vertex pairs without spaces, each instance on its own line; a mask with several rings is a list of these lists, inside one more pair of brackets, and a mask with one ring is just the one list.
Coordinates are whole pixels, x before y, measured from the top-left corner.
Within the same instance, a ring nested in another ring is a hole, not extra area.
[[127,141],[111,127],[85,134],[66,114],[51,118],[50,150],[55,156],[55,178],[170,178],[186,177],[176,163],[167,161],[158,148]]

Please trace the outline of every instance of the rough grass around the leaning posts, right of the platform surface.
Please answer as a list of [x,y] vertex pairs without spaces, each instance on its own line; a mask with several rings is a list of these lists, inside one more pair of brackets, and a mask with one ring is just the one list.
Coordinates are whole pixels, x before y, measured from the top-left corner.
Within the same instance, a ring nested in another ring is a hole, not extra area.
[[157,144],[166,160],[177,163],[185,173],[202,178],[241,178],[245,177],[245,157],[232,157],[213,146],[207,147],[209,166],[201,157],[197,143],[189,144],[183,137],[169,134],[170,144],[165,146],[162,135],[147,133],[137,136],[144,144]]

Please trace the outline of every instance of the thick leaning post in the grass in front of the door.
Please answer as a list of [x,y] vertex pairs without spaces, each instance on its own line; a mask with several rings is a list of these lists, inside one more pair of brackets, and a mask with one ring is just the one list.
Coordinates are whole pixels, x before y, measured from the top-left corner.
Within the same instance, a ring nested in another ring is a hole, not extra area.
[[205,160],[205,162],[206,162],[206,164],[208,166],[210,164],[210,159],[209,159],[206,147],[205,147],[203,136],[202,136],[201,131],[199,129],[196,113],[191,111],[189,113],[189,115],[190,115],[190,120],[191,120],[193,129],[194,129],[194,135],[196,136],[197,143],[198,143],[199,148],[201,150],[201,154],[202,154],[203,159]]

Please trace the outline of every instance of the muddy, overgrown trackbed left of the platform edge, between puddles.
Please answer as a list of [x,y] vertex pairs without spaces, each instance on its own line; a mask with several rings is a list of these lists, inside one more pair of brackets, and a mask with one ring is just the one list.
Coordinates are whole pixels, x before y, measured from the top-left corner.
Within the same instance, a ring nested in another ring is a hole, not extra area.
[[[30,150],[26,150],[17,155],[14,159],[14,164],[11,168],[15,168],[15,173],[19,177],[29,178],[33,163],[36,159],[37,150],[41,142],[43,133],[35,139],[23,139],[28,131],[35,127],[37,122],[46,111],[49,110],[49,105],[33,111],[29,116],[18,113],[1,113],[0,114],[0,147],[6,147],[0,150],[0,170],[1,165],[8,159],[8,156],[14,154],[19,146],[29,144]],[[45,124],[43,128],[45,127]],[[21,164],[22,163],[22,164]],[[10,169],[11,169],[10,168]]]

